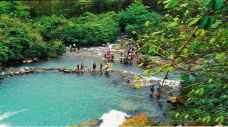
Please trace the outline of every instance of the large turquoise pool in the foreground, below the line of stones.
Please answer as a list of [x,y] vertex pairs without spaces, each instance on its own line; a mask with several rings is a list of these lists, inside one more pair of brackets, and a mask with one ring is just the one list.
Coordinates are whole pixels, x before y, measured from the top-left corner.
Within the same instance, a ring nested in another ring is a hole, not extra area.
[[66,126],[96,119],[112,109],[162,116],[149,89],[116,85],[119,75],[34,73],[0,82],[0,125]]

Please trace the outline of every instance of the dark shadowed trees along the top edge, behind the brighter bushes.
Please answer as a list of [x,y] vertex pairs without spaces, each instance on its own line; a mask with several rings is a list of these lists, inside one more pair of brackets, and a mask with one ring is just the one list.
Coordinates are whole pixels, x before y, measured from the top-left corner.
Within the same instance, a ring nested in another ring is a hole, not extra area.
[[25,1],[32,9],[32,16],[64,15],[80,16],[84,12],[105,13],[119,11],[134,0],[42,0]]

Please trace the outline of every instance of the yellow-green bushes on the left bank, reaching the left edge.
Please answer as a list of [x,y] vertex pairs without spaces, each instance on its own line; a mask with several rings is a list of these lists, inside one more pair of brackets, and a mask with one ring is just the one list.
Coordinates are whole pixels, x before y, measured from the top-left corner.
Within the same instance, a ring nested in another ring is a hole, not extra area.
[[29,7],[21,2],[5,1],[0,6],[3,7],[0,9],[0,66],[63,53],[62,42],[45,42],[39,27],[27,19]]

